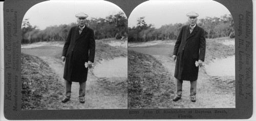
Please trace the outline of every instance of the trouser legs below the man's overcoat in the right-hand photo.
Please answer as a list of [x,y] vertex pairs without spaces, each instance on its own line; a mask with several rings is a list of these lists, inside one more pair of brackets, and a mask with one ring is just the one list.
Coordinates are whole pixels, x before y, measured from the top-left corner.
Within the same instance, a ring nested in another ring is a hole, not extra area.
[[[182,83],[183,80],[176,79],[177,82],[177,96],[181,97],[182,94]],[[190,98],[195,97],[197,94],[197,80],[196,81],[190,81]]]

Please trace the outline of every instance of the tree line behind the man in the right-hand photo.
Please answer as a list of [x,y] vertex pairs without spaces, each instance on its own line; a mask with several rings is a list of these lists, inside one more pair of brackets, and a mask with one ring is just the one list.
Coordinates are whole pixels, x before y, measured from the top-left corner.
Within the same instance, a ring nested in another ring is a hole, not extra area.
[[[189,23],[175,23],[163,25],[156,29],[153,25],[147,25],[145,17],[137,19],[137,26],[128,28],[129,42],[146,42],[152,40],[175,40],[184,25]],[[197,24],[205,30],[206,38],[234,37],[234,21],[231,14],[219,17],[206,17],[198,19]]]

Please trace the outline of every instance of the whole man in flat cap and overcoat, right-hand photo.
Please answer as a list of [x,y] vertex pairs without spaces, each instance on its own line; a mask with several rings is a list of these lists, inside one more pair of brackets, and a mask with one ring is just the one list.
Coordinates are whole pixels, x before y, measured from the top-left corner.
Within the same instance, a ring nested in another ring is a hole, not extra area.
[[198,70],[205,57],[204,30],[197,25],[195,12],[187,14],[189,25],[183,26],[174,46],[173,59],[176,60],[175,75],[177,95],[173,101],[181,99],[183,80],[190,81],[190,100],[196,102]]

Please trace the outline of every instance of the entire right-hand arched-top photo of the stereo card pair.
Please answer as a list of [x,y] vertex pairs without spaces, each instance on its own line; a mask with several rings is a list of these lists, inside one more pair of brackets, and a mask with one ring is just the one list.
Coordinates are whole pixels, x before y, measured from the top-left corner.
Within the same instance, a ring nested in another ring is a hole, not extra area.
[[147,1],[128,27],[129,109],[236,108],[236,36],[225,6]]

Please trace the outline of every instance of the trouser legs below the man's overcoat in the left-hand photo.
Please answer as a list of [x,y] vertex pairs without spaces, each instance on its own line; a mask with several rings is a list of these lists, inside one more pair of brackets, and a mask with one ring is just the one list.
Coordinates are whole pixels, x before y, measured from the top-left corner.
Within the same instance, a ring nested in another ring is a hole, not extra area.
[[[65,83],[66,83],[66,97],[70,99],[72,82],[65,80]],[[85,95],[86,95],[86,82],[79,82],[79,99],[84,99]]]

